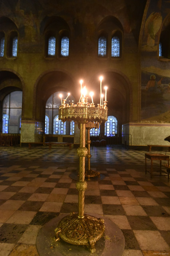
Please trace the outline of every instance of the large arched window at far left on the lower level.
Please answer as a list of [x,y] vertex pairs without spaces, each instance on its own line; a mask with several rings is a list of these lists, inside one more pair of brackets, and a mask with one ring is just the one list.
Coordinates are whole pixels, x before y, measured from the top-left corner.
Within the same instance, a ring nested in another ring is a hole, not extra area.
[[22,112],[21,91],[13,91],[4,98],[2,112],[2,132],[20,133],[20,117]]

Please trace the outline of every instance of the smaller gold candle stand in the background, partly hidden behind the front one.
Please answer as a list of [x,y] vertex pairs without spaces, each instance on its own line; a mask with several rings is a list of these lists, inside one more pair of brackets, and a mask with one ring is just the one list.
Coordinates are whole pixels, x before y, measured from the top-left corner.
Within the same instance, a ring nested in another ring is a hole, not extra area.
[[87,129],[87,148],[88,148],[88,154],[87,154],[88,167],[85,170],[85,178],[87,178],[88,180],[90,180],[90,178],[100,177],[100,173],[99,172],[91,170],[91,168],[90,168],[90,158],[91,158],[91,154],[90,154],[90,144],[91,144],[90,129],[92,129],[92,128],[99,129],[99,122],[93,121],[93,122],[90,122],[90,123],[86,124],[86,129]]

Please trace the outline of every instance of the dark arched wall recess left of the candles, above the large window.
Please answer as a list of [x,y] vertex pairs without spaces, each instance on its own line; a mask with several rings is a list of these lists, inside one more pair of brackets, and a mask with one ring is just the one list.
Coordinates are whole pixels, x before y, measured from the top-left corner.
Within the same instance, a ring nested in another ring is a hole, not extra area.
[[34,88],[34,116],[38,121],[43,122],[45,116],[46,101],[51,94],[57,91],[69,92],[74,98],[77,93],[77,86],[73,78],[62,71],[49,71],[37,79]]

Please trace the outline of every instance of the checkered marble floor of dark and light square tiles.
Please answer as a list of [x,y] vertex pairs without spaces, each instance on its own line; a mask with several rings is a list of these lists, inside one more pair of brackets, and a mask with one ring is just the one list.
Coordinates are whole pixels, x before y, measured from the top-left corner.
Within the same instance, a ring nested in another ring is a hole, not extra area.
[[[84,211],[118,225],[126,243],[123,256],[170,254],[170,182],[165,175],[145,175],[144,153],[91,149],[91,169],[105,177],[87,181]],[[77,171],[78,161],[74,148],[0,147],[1,256],[39,256],[41,227],[60,214],[77,212],[76,181],[69,174]],[[153,167],[159,170],[159,162]]]

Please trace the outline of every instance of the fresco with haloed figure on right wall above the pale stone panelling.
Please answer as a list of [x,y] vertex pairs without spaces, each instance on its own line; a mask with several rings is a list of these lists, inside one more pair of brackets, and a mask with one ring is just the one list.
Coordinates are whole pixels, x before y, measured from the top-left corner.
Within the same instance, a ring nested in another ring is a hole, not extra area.
[[[141,75],[141,120],[159,120],[170,110],[170,77],[151,72]],[[153,118],[153,119],[152,119]]]

